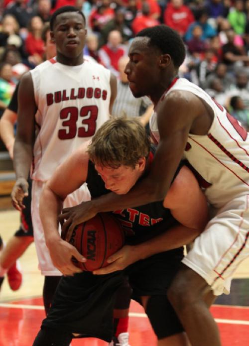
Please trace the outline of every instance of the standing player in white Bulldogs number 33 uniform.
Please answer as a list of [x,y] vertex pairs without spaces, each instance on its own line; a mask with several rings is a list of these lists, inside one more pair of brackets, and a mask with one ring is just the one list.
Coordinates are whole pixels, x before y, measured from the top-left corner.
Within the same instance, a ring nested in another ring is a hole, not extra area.
[[[32,223],[39,266],[45,276],[46,311],[61,272],[54,267],[45,244],[39,217],[40,193],[55,168],[109,118],[117,93],[117,81],[110,71],[83,58],[87,30],[81,11],[72,6],[61,7],[51,17],[50,29],[56,57],[20,81],[14,144],[16,183],[12,191],[13,205],[23,208],[32,163]],[[89,198],[84,186],[64,205],[77,205]]]

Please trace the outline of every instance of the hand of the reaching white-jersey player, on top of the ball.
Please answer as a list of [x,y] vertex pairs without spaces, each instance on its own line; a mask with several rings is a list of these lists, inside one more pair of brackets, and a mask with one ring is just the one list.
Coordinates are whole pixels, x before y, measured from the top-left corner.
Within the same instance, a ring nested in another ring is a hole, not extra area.
[[95,217],[97,212],[93,209],[92,201],[82,202],[78,206],[64,208],[58,216],[61,225],[61,237],[70,240],[75,227]]

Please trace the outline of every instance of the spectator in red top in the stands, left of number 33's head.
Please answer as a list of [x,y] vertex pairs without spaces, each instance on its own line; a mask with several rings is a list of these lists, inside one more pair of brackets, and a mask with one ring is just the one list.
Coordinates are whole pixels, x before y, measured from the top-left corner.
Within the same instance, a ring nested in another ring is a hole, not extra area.
[[31,18],[28,25],[28,36],[25,40],[25,50],[28,54],[28,61],[33,65],[38,65],[43,61],[44,42],[41,38],[43,22],[40,17]]

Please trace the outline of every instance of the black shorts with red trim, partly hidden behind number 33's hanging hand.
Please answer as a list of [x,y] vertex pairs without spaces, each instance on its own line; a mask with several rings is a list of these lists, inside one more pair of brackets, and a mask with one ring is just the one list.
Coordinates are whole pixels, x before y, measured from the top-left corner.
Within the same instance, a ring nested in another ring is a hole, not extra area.
[[25,209],[22,209],[20,216],[20,227],[14,233],[15,236],[33,236],[33,226],[31,219],[31,189],[32,180],[28,178],[28,196],[24,197],[23,204]]

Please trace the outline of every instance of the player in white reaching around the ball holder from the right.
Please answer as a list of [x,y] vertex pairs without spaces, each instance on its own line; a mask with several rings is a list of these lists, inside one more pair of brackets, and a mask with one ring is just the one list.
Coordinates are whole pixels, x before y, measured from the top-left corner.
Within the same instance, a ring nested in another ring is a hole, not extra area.
[[177,78],[184,58],[184,43],[168,26],[136,35],[125,73],[133,95],[147,95],[155,105],[150,127],[158,146],[151,172],[128,194],[65,209],[61,218],[70,233],[100,211],[159,201],[185,156],[217,212],[183,259],[168,296],[192,346],[221,346],[209,306],[216,295],[229,293],[233,272],[249,256],[249,135],[203,90]]

